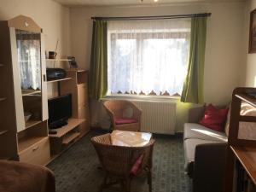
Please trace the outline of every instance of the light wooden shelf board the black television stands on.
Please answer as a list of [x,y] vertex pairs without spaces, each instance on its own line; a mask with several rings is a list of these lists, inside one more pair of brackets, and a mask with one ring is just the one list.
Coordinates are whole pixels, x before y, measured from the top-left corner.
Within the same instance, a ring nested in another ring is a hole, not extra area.
[[63,137],[67,132],[72,131],[77,126],[84,123],[85,119],[68,119],[67,125],[62,126],[61,128],[55,129],[56,134],[49,134],[49,137]]

